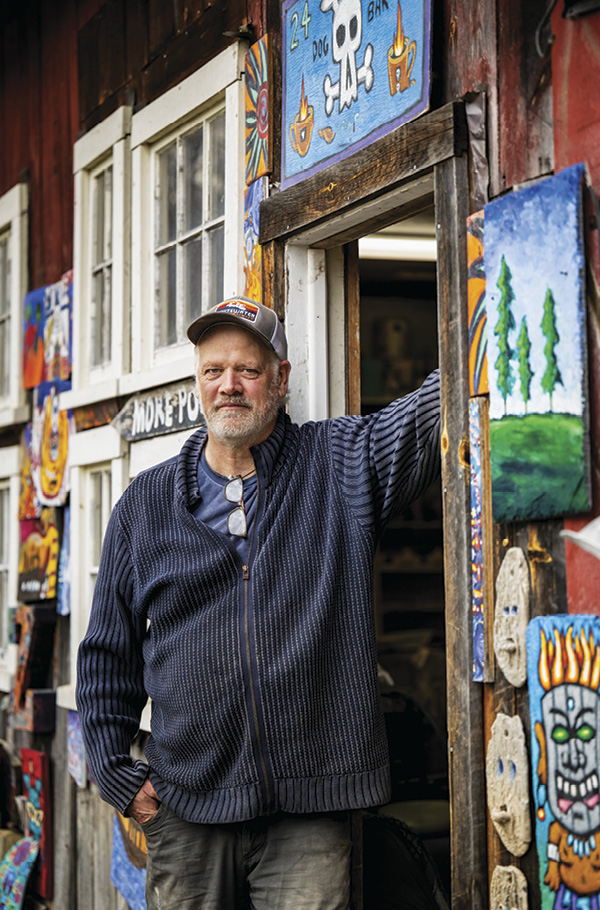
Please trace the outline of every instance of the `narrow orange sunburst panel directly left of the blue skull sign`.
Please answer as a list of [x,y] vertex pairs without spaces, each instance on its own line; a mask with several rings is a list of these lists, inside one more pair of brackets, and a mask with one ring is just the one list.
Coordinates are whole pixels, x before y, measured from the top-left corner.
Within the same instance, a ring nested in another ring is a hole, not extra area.
[[273,109],[271,47],[268,35],[246,54],[246,184],[273,170],[271,122]]

